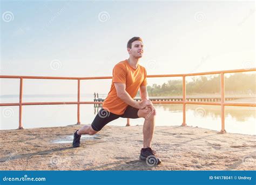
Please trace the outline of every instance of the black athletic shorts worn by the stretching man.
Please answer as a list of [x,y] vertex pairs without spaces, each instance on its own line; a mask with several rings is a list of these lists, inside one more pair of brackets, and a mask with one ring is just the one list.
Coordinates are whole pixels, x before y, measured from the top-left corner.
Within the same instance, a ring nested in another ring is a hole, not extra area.
[[132,106],[128,106],[125,109],[124,114],[122,115],[117,115],[113,114],[106,109],[100,109],[98,114],[96,115],[95,119],[92,122],[92,128],[95,131],[100,131],[106,124],[108,124],[110,121],[116,120],[117,118],[139,118],[138,117],[138,108],[134,108]]

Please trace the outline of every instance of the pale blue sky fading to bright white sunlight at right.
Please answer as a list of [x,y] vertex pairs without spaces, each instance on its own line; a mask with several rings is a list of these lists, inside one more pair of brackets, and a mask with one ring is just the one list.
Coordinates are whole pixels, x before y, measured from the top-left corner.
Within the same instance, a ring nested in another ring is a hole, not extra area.
[[[1,1],[1,15],[1,75],[112,76],[134,36],[147,74],[255,67],[254,1]],[[41,81],[25,80],[24,94],[76,93],[76,81]],[[18,83],[2,79],[1,94]],[[111,81],[83,83],[107,93]]]

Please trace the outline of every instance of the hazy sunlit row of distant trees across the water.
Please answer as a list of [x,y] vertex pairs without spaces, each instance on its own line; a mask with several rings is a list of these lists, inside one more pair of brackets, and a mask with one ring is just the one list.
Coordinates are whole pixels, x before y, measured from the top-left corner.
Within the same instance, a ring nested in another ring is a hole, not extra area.
[[[193,81],[186,83],[186,93],[220,93],[220,75],[206,77],[193,77]],[[234,73],[225,77],[225,91],[232,93],[255,93],[255,73]],[[150,96],[159,95],[181,95],[182,80],[169,80],[162,85],[153,84],[147,86]],[[139,94],[138,94],[139,95]]]

